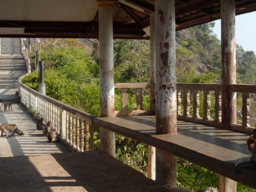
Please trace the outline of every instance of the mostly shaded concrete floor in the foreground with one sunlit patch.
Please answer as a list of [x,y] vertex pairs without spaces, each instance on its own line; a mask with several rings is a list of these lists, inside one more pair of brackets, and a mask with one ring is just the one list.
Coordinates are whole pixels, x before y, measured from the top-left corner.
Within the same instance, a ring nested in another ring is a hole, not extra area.
[[[189,192],[166,189],[100,151],[0,158],[1,192]],[[191,191],[190,191],[191,192]]]

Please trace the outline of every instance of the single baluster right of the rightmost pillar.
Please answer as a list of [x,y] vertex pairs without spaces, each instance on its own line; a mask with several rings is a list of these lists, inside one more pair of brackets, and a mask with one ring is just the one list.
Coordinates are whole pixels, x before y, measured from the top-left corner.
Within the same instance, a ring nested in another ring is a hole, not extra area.
[[250,94],[242,93],[243,106],[242,106],[242,126],[250,126]]

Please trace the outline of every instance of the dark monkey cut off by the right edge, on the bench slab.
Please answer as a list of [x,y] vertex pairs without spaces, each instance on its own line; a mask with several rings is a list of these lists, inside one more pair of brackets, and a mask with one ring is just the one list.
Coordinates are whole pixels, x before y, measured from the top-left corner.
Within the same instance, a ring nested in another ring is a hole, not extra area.
[[251,152],[250,161],[239,163],[236,168],[234,169],[235,173],[238,173],[239,169],[241,167],[251,167],[256,166],[256,130],[253,130],[253,135],[251,135],[247,139],[247,147],[249,151]]

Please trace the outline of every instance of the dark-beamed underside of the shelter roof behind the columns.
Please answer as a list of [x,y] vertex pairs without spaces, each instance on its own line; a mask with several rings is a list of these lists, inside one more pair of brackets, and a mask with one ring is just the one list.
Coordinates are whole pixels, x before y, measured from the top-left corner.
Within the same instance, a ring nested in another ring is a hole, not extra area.
[[[0,0],[0,37],[98,38],[96,0]],[[236,0],[236,15],[256,0]],[[114,38],[149,39],[154,0],[115,0]],[[175,0],[176,30],[221,18],[220,0]]]

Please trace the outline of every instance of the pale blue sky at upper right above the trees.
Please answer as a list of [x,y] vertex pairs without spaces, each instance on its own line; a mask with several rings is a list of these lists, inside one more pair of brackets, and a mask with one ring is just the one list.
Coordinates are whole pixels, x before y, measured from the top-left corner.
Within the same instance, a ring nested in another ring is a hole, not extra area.
[[[221,40],[221,20],[215,21],[213,32]],[[256,11],[236,16],[236,44],[256,55]]]

